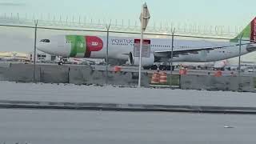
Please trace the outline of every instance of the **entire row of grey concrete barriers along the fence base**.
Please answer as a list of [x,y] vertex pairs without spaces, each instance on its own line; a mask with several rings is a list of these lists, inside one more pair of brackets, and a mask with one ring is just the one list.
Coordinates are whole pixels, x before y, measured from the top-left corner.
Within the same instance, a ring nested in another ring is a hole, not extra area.
[[[94,70],[90,66],[57,66],[37,65],[36,82],[74,83],[74,84],[106,84],[106,71]],[[0,80],[14,82],[33,82],[34,66],[11,64],[0,67]],[[151,74],[142,73],[142,86],[150,86]],[[170,78],[167,78],[169,80]],[[234,90],[254,92],[252,77],[214,77],[210,75],[182,75],[173,78],[173,85],[191,90]],[[138,73],[125,71],[109,71],[108,84],[116,86],[138,86]]]

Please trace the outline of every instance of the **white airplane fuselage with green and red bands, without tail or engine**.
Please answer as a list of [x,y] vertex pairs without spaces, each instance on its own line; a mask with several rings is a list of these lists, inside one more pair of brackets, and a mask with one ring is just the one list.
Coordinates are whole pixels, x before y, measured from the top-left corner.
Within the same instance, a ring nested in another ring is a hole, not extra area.
[[[171,50],[171,39],[150,39],[150,53]],[[71,58],[106,58],[106,36],[58,35],[49,39],[50,42],[40,42],[38,49],[49,54]],[[244,42],[245,43],[245,42]],[[238,43],[211,42],[202,40],[174,39],[174,50],[192,50],[200,47],[220,47],[214,50],[202,50],[194,54],[184,54],[174,57],[174,62],[214,62],[239,55]],[[128,54],[134,52],[134,38],[110,37],[108,45],[109,58],[128,60]],[[241,46],[241,54],[248,54],[247,45]],[[162,61],[166,58],[162,58]],[[170,60],[170,58],[167,58]]]

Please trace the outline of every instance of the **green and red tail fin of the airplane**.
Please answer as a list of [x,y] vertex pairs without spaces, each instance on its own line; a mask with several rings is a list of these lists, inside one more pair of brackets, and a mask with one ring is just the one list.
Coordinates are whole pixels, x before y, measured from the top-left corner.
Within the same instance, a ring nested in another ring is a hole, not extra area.
[[246,26],[245,29],[242,30],[241,33],[238,34],[238,36],[236,36],[233,39],[230,39],[230,42],[238,42],[241,36],[242,40],[256,42],[256,17]]

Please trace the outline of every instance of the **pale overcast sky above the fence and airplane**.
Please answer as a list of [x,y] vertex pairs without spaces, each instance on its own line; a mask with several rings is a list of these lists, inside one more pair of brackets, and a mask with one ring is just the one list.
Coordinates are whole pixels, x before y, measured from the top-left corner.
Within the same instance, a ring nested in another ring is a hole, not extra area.
[[[246,26],[254,16],[255,0],[0,0],[0,15],[32,17],[86,16],[94,19],[138,20],[143,2],[150,22],[189,23],[201,26]],[[46,35],[39,31],[38,37]],[[53,34],[49,32],[49,34]],[[0,51],[32,51],[34,30],[0,27]]]

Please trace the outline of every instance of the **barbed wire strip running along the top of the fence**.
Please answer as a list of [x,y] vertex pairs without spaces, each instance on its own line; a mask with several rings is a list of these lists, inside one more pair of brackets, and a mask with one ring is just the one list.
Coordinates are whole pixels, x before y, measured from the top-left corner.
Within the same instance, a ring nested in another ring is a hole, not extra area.
[[[140,23],[132,22],[127,20],[118,21],[116,20],[101,20],[98,19],[95,22],[92,18],[86,18],[79,16],[76,17],[63,17],[48,14],[48,18],[37,18],[33,15],[33,18],[29,18],[27,14],[25,17],[21,14],[1,14],[0,15],[0,26],[13,26],[23,28],[34,28],[34,21],[38,20],[38,29],[48,30],[72,30],[72,31],[94,31],[94,32],[106,32],[106,25],[110,24],[111,33],[126,33],[126,34],[139,34]],[[127,23],[127,24],[125,24]],[[180,37],[191,37],[191,38],[214,38],[214,39],[230,39],[234,38],[238,34],[238,31],[242,30],[238,26],[231,30],[230,27],[226,26],[197,26],[187,25],[186,23],[175,26],[173,22],[157,25],[156,22],[147,26],[146,34],[149,35],[162,35],[170,36],[170,31],[175,27],[175,36]]]

